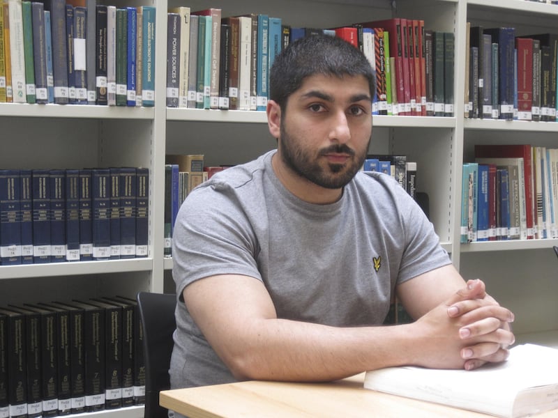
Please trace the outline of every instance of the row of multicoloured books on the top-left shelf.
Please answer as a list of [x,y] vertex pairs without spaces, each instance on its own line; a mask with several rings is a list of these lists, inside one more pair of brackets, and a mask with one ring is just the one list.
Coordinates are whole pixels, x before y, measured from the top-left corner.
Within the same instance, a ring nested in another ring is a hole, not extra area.
[[155,7],[0,6],[0,102],[154,105]]

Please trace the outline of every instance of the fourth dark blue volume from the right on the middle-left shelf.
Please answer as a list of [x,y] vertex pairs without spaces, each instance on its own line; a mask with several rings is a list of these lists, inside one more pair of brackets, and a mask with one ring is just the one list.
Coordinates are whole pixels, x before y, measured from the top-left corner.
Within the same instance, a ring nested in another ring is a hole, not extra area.
[[93,169],[93,260],[110,258],[110,169]]

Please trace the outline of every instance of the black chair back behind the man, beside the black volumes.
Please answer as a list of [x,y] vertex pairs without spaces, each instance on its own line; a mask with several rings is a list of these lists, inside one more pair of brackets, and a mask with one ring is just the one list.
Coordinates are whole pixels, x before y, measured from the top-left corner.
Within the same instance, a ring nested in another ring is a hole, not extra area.
[[169,364],[176,329],[176,295],[140,292],[137,304],[144,330],[145,418],[167,418],[159,405],[159,392],[170,389]]

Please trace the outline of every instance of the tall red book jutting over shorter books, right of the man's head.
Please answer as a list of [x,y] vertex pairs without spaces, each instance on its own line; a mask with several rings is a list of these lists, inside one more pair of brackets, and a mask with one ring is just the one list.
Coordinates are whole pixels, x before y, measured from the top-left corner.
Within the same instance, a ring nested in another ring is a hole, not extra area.
[[[394,17],[387,20],[375,20],[374,22],[361,23],[365,28],[383,28],[389,32],[389,56],[395,59],[395,79],[397,80],[397,102],[399,104],[399,115],[409,115],[411,98],[409,92],[409,54],[404,42],[402,19]],[[405,26],[407,22],[405,21]],[[405,61],[404,61],[405,59]],[[406,68],[406,70],[405,70]],[[407,78],[405,78],[407,74]],[[408,104],[408,106],[407,106]]]

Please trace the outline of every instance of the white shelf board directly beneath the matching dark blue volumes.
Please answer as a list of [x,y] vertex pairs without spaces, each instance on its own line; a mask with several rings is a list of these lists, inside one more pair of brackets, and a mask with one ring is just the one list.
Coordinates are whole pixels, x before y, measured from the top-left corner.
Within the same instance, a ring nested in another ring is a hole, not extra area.
[[152,269],[152,258],[130,258],[128,260],[106,261],[77,261],[75,263],[2,265],[0,266],[0,279],[76,275],[82,276],[84,274],[142,272]]

